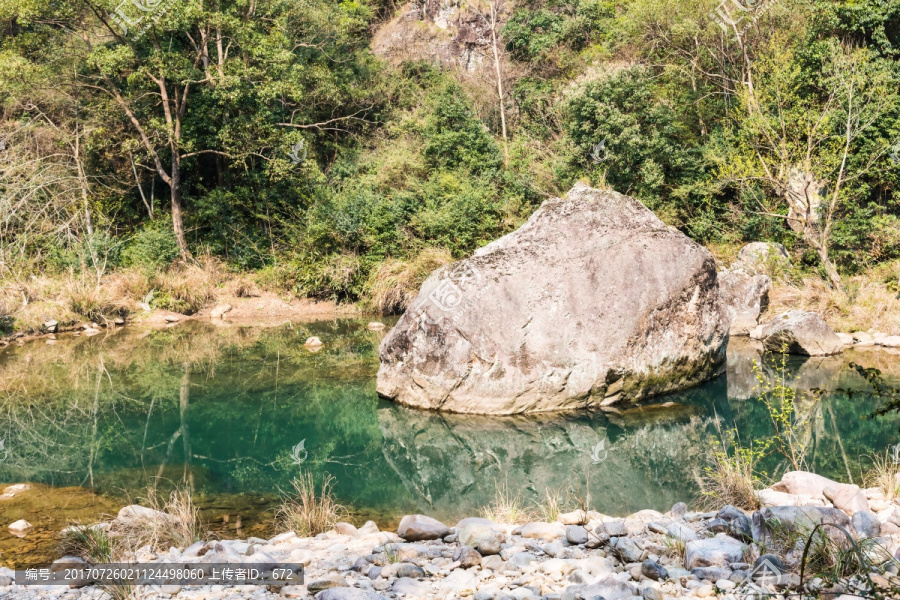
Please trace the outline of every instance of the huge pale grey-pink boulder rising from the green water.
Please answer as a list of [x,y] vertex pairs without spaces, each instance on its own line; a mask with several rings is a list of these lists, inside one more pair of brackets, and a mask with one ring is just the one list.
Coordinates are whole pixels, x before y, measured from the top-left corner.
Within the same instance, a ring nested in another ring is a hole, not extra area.
[[718,374],[727,329],[705,248],[579,184],[431,274],[381,344],[377,389],[482,414],[639,400]]

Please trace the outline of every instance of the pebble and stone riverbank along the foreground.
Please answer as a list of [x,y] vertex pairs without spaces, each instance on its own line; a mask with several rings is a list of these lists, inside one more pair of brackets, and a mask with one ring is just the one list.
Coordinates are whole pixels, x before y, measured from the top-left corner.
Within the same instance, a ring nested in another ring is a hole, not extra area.
[[[408,515],[396,531],[379,530],[372,521],[359,528],[338,522],[312,537],[290,531],[271,539],[145,546],[118,560],[207,567],[299,563],[305,568],[304,585],[169,585],[143,590],[142,598],[159,600],[666,600],[742,598],[754,590],[758,596],[760,588],[778,598],[801,592],[846,600],[895,597],[900,589],[900,497],[887,497],[880,488],[860,489],[792,472],[760,491],[758,498],[763,507],[757,511],[722,506],[698,512],[677,503],[666,513],[642,510],[625,518],[575,510],[558,514],[552,522],[471,517],[452,527],[424,515]],[[94,527],[115,531],[135,518],[166,522],[170,517],[125,507],[112,522]],[[812,535],[819,524],[829,524],[827,535]],[[845,535],[853,537],[861,553]],[[810,537],[812,550],[804,556]],[[83,558],[68,557],[57,564],[72,565]],[[836,561],[845,562],[837,576],[829,578]],[[12,576],[9,569],[0,569],[0,598],[75,600],[101,593],[91,585],[16,585]]]

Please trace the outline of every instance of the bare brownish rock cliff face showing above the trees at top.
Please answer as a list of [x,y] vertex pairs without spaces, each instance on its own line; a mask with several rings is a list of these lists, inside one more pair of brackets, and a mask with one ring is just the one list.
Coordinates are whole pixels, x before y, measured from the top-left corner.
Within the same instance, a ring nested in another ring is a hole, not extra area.
[[[431,61],[476,71],[489,64],[490,13],[478,12],[462,0],[413,0],[382,27],[372,41],[376,55],[392,62]],[[498,15],[498,29],[507,14]]]

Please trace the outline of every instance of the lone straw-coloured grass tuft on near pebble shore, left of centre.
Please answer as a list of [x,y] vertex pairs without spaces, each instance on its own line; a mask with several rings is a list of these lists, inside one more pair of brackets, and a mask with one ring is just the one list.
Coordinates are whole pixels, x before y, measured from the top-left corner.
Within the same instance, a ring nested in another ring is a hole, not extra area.
[[347,520],[347,509],[334,498],[334,477],[331,475],[325,475],[318,493],[312,473],[301,473],[291,484],[294,491],[285,494],[277,514],[284,531],[310,537],[330,531],[335,523]]

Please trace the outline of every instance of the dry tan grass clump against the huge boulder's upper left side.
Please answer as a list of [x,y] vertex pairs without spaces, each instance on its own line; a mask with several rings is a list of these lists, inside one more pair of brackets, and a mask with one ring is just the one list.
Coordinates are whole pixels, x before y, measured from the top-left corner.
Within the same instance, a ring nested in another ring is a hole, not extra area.
[[444,248],[426,248],[412,261],[388,259],[369,278],[368,303],[383,315],[403,312],[425,279],[451,262],[453,257]]

